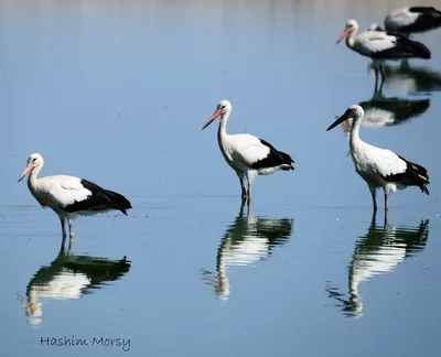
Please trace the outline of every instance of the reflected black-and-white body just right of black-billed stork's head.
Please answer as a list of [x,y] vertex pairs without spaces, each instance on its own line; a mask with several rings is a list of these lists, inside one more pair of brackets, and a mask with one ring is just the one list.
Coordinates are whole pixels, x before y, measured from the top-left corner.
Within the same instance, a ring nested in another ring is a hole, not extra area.
[[429,109],[430,99],[375,98],[358,104],[365,111],[365,119],[394,126],[421,116]]

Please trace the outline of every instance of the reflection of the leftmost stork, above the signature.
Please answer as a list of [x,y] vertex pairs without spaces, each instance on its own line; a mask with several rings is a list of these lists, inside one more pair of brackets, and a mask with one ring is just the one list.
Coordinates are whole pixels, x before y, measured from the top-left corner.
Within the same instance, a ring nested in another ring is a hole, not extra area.
[[72,253],[73,240],[65,250],[63,238],[56,258],[47,266],[40,268],[26,286],[25,296],[18,296],[31,325],[40,325],[43,315],[42,300],[78,299],[90,294],[109,281],[122,278],[130,270],[130,261],[109,260]]

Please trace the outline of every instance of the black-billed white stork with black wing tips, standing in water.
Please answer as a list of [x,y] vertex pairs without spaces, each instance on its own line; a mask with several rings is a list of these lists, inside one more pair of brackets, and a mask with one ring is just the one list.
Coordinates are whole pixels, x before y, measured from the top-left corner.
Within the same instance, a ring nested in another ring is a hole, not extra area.
[[376,190],[381,187],[385,194],[385,217],[388,213],[387,195],[390,192],[418,186],[429,195],[427,185],[429,175],[424,167],[407,161],[390,150],[379,149],[359,139],[358,132],[364,117],[361,106],[352,106],[331,125],[326,131],[352,118],[349,147],[355,171],[366,181],[373,197],[374,214],[377,212]]

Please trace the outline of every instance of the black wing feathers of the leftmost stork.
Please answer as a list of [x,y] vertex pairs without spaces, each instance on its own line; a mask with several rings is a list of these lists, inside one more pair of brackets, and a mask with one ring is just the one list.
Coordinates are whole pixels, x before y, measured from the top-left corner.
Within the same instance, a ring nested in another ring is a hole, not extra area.
[[119,193],[101,188],[97,184],[85,178],[82,178],[82,185],[90,191],[92,195],[86,199],[76,201],[68,206],[62,207],[64,210],[74,213],[79,210],[99,212],[105,209],[118,209],[127,216],[126,209],[131,208],[130,202]]

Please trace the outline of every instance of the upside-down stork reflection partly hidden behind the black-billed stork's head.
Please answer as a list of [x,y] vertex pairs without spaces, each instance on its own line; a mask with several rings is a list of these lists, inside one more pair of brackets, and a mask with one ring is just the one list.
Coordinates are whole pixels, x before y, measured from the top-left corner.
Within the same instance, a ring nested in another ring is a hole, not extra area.
[[[408,99],[398,97],[385,97],[383,85],[375,88],[369,100],[358,104],[365,111],[362,122],[366,128],[383,128],[400,125],[405,121],[416,119],[424,113],[430,107],[430,99]],[[352,128],[352,119],[342,122],[345,137],[348,139]]]

